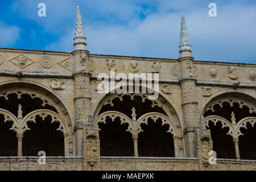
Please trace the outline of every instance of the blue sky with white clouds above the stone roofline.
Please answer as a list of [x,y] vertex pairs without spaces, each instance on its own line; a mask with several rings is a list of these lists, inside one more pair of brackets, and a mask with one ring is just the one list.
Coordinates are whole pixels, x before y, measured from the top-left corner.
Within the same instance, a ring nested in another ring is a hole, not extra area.
[[0,47],[71,52],[77,5],[90,53],[177,59],[184,14],[195,60],[256,64],[255,0],[1,1]]

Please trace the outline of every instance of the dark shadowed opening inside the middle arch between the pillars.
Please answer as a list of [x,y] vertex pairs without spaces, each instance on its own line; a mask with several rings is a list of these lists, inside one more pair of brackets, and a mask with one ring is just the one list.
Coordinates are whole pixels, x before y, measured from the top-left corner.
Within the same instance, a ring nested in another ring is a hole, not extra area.
[[[124,114],[127,119],[114,117],[114,112]],[[104,113],[109,113],[106,114],[108,117],[105,116],[104,121],[98,123],[101,130],[99,131],[101,156],[134,156],[136,136],[138,156],[175,156],[172,134],[167,133],[170,125],[163,125],[162,119],[156,118],[154,122],[153,119],[147,118],[146,122],[139,125],[139,132],[131,129],[137,125],[138,119],[147,113],[156,113],[168,119],[164,110],[157,105],[153,107],[152,102],[147,98],[129,95],[122,96],[121,100],[113,98],[110,104],[102,106],[100,115]],[[133,125],[129,126],[125,120],[129,120]]]

